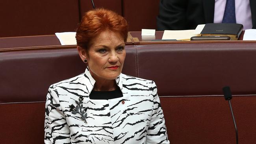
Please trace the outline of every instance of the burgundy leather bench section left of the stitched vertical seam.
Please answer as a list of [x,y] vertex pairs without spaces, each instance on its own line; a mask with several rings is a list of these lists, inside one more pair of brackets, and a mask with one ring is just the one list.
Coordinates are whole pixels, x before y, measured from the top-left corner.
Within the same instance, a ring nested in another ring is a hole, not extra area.
[[[126,52],[123,71],[135,76],[134,46]],[[76,48],[0,53],[0,143],[43,143],[48,87],[85,68]]]

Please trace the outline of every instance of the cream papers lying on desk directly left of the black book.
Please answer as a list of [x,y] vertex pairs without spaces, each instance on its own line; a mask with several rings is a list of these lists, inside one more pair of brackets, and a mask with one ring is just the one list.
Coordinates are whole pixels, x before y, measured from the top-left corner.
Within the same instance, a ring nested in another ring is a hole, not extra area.
[[176,39],[190,41],[190,38],[194,36],[201,36],[201,34],[196,34],[195,30],[165,30],[162,40]]

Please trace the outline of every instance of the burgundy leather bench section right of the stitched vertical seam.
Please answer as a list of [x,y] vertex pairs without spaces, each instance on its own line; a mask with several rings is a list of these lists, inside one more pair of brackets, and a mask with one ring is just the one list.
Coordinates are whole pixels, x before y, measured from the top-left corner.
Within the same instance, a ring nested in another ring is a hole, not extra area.
[[230,86],[239,143],[256,141],[256,43],[138,45],[137,76],[152,79],[173,144],[234,144],[222,88]]

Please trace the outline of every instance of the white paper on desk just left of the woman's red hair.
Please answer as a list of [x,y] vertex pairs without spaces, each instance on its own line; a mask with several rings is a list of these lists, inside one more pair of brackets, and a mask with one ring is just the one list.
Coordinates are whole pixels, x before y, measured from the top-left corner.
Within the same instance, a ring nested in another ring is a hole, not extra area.
[[76,45],[76,32],[55,33],[61,45]]

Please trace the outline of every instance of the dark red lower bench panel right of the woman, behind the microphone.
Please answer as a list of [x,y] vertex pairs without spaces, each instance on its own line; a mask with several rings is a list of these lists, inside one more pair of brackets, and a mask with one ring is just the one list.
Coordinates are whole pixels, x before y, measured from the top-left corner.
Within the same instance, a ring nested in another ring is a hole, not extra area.
[[[256,141],[256,96],[234,96],[239,144]],[[224,96],[160,97],[171,144],[235,144],[234,123]]]

